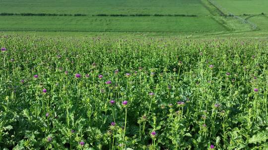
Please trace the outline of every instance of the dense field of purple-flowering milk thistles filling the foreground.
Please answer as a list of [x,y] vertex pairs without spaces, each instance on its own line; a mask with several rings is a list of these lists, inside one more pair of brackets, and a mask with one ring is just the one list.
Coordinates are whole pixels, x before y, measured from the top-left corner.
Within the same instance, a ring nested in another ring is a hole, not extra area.
[[266,40],[0,47],[0,150],[268,150]]

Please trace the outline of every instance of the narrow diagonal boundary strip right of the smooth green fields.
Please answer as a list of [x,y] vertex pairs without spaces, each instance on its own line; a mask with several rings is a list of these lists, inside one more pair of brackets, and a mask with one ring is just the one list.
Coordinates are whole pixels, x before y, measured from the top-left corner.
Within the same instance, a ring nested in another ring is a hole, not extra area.
[[214,7],[216,7],[222,14],[224,14],[225,16],[231,16],[234,17],[235,19],[241,21],[242,23],[245,24],[249,24],[253,30],[258,30],[259,28],[257,27],[257,25],[255,23],[252,23],[244,18],[241,18],[229,11],[227,11],[225,8],[223,8],[222,6],[220,6],[219,4],[217,4],[215,1],[213,0],[207,0],[209,3],[211,3]]

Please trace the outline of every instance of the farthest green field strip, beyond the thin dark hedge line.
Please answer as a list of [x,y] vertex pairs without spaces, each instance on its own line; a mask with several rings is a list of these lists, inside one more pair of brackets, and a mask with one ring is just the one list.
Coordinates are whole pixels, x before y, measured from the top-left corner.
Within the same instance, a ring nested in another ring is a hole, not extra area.
[[0,12],[209,15],[200,0],[0,0]]

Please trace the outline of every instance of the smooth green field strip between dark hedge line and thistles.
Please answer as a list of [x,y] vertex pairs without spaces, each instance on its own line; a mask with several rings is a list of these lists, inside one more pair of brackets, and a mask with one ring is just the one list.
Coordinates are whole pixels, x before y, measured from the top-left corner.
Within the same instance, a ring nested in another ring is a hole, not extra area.
[[225,31],[210,17],[60,17],[0,16],[5,31],[78,32],[177,32],[212,33]]

